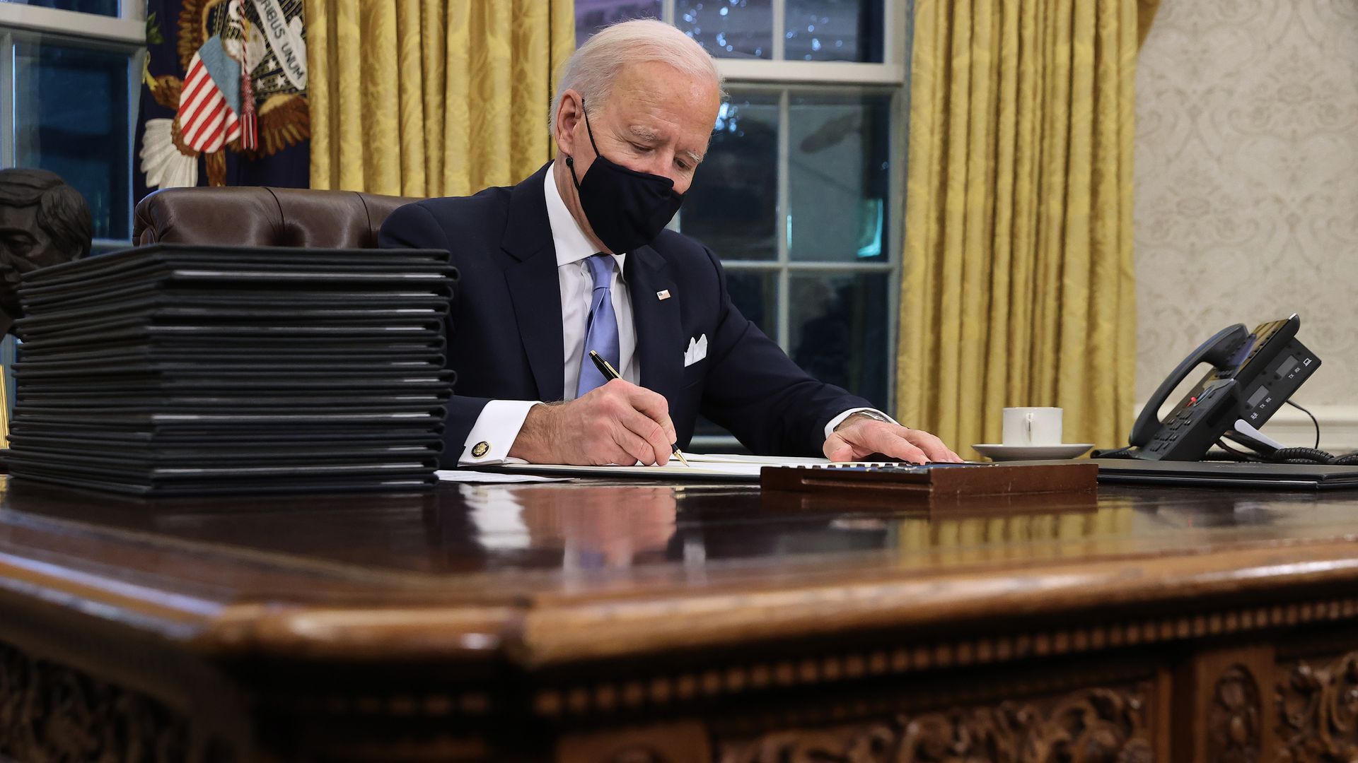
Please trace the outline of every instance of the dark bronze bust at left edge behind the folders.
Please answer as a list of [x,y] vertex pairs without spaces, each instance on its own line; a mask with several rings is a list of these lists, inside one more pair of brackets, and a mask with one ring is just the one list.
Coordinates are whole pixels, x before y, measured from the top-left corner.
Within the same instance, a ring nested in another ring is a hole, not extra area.
[[80,191],[46,170],[0,170],[0,331],[23,316],[19,276],[90,254],[94,223]]

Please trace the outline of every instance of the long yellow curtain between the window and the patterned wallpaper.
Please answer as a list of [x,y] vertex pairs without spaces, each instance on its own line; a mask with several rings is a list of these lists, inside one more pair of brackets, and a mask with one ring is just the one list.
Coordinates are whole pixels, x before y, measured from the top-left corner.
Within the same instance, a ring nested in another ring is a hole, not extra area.
[[1126,444],[1137,42],[1137,0],[917,1],[896,407],[963,455],[1005,406]]

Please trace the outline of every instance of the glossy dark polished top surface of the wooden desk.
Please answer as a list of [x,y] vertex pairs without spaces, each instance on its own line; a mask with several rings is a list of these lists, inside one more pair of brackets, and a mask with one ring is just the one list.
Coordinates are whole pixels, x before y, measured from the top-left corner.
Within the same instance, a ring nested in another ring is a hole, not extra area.
[[[200,543],[369,570],[623,574],[725,563],[819,563],[885,555],[898,565],[1143,553],[1192,544],[1350,532],[1344,496],[1101,489],[1096,508],[921,513],[891,504],[786,506],[747,486],[443,485],[406,496],[114,500],[15,482],[0,504],[0,544],[34,523],[84,534],[134,532],[155,546]],[[661,573],[663,574],[663,573]]]

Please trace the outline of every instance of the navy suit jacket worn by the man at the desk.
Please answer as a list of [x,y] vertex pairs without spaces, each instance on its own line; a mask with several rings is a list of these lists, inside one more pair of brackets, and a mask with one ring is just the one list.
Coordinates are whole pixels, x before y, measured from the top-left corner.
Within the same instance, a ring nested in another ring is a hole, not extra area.
[[[448,406],[444,462],[456,464],[492,399],[564,396],[561,292],[547,221],[543,167],[513,187],[402,206],[378,236],[383,247],[445,248],[460,273],[448,330],[448,367],[458,373]],[[872,403],[816,382],[727,293],[708,247],[675,234],[627,253],[641,386],[664,395],[687,448],[698,414],[725,426],[751,452],[820,456],[826,424]],[[669,299],[656,292],[668,291]],[[708,356],[683,365],[690,339]]]

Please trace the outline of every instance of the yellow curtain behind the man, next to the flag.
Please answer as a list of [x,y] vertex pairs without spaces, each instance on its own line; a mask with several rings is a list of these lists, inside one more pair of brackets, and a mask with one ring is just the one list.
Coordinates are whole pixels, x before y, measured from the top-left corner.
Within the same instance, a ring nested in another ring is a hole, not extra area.
[[307,0],[311,187],[464,196],[551,157],[572,0]]

